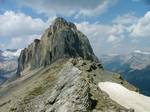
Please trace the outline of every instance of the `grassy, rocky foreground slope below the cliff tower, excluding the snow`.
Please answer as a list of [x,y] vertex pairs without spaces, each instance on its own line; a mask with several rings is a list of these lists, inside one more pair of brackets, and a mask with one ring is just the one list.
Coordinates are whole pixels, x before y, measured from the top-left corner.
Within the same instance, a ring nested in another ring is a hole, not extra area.
[[98,88],[100,81],[113,81],[136,90],[117,74],[113,76],[101,69],[99,64],[63,59],[45,68],[28,71],[15,82],[3,85],[0,109],[5,112],[130,112]]

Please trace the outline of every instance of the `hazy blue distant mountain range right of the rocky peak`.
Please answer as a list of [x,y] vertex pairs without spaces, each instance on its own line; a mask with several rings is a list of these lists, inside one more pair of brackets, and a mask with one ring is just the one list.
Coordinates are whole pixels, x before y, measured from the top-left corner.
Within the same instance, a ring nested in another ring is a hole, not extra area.
[[150,96],[150,52],[136,50],[128,55],[102,55],[100,57],[105,69],[118,72]]

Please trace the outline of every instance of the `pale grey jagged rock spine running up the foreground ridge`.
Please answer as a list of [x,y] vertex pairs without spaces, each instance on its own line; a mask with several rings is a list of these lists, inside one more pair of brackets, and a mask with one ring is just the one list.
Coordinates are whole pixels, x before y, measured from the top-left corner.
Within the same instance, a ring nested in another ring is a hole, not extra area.
[[90,88],[81,71],[68,63],[60,71],[59,81],[48,98],[46,112],[86,112],[92,106]]

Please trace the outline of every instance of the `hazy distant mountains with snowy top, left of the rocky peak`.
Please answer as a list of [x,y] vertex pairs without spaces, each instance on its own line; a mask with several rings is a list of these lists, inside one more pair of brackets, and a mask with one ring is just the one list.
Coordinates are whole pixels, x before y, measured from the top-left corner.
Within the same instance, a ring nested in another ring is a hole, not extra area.
[[21,49],[0,50],[0,85],[15,74],[20,52]]

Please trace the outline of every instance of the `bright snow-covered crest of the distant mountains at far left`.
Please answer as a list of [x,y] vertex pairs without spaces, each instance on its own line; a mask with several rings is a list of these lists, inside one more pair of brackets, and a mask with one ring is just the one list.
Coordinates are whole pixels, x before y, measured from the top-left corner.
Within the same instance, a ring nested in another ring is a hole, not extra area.
[[2,53],[2,56],[8,57],[8,58],[19,57],[21,50],[22,49],[18,49],[16,51],[6,50]]

